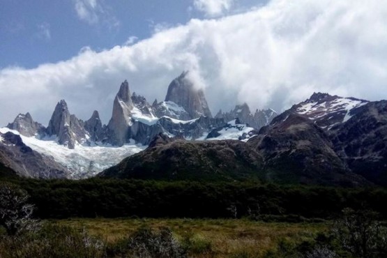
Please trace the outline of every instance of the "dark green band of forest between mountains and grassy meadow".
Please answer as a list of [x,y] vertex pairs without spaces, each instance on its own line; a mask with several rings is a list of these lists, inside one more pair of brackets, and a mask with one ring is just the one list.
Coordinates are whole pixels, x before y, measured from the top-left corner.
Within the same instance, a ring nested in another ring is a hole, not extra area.
[[7,180],[29,193],[38,218],[331,219],[347,207],[376,211],[387,218],[384,188],[117,179]]

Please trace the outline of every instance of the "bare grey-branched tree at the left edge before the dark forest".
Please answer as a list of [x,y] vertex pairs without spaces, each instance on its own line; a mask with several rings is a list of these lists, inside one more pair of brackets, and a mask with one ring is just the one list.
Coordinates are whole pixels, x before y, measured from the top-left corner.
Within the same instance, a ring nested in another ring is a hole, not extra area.
[[40,227],[40,222],[31,217],[34,206],[27,203],[28,198],[25,190],[10,183],[0,184],[0,225],[6,229],[8,236]]

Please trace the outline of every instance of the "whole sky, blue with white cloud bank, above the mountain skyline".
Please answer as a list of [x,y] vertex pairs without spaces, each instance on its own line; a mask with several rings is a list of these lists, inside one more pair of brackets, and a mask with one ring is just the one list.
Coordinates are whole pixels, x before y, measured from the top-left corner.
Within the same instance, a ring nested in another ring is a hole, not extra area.
[[1,0],[0,126],[56,103],[103,123],[128,79],[149,103],[190,70],[211,112],[328,92],[387,99],[387,1]]

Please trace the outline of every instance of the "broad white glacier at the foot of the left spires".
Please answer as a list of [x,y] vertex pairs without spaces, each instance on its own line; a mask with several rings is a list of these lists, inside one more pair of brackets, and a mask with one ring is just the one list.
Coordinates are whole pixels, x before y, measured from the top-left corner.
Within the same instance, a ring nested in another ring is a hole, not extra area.
[[[15,135],[20,135],[16,130],[9,128],[0,128],[0,132],[13,132]],[[103,169],[116,165],[123,158],[146,149],[146,146],[134,143],[116,147],[96,142],[93,142],[91,146],[77,144],[75,149],[68,149],[66,146],[58,144],[55,136],[43,139],[38,139],[36,136],[20,135],[20,137],[22,137],[24,144],[34,151],[50,155],[56,162],[66,167],[70,171],[72,179],[94,176],[102,172]]]

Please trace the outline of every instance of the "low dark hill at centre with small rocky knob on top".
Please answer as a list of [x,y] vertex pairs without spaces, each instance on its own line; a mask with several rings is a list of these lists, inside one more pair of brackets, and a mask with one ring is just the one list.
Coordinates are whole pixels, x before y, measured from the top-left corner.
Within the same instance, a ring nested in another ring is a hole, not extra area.
[[99,176],[199,181],[259,178],[262,158],[244,142],[185,141],[158,135],[149,148]]

